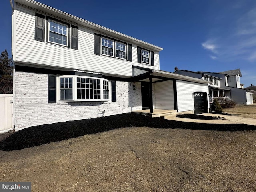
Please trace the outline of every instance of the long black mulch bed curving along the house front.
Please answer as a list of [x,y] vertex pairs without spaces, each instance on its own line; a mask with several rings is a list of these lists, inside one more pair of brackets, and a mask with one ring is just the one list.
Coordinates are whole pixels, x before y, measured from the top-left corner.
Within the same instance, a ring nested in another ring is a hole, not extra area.
[[256,130],[245,124],[200,124],[179,122],[163,118],[150,118],[135,113],[112,115],[103,118],[84,119],[33,126],[10,135],[0,142],[0,150],[19,150],[50,142],[76,138],[123,127],[181,128],[196,130],[243,131]]

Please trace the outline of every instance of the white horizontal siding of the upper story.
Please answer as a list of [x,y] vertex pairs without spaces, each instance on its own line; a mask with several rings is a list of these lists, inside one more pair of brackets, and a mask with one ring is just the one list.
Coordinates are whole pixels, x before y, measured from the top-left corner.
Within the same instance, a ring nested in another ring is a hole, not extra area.
[[[128,62],[127,60],[95,55],[95,31],[90,28],[78,26],[79,49],[74,50],[57,44],[34,40],[35,11],[17,4],[16,20],[16,26],[14,26],[14,28],[16,27],[16,38],[14,39],[16,46],[13,55],[13,60],[16,62],[123,76],[132,76],[132,65],[141,66],[137,63],[137,45],[135,44],[132,44],[132,62]],[[157,51],[154,51],[154,66],[147,66],[147,68],[159,70],[159,53]]]

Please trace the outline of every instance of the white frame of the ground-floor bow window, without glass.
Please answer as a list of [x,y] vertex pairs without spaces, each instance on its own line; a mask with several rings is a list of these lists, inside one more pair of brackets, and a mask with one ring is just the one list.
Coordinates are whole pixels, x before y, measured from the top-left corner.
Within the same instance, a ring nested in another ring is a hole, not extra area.
[[[72,100],[61,100],[60,99],[60,78],[72,78]],[[100,80],[100,99],[77,99],[77,78],[89,78]],[[108,82],[108,99],[104,99],[103,92],[103,81]],[[87,102],[87,101],[109,101],[111,98],[111,82],[104,78],[90,77],[90,76],[78,76],[78,75],[62,75],[57,76],[57,101],[59,102]]]

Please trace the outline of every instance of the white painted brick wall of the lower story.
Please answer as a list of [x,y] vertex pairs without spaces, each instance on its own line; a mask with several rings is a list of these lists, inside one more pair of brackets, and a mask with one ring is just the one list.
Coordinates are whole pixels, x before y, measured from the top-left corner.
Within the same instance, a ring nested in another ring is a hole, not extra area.
[[[133,85],[136,87],[135,90]],[[141,110],[140,82],[116,81],[116,97],[116,102],[48,103],[48,75],[16,71],[15,130],[35,125],[96,118],[103,110],[106,112],[105,116]]]

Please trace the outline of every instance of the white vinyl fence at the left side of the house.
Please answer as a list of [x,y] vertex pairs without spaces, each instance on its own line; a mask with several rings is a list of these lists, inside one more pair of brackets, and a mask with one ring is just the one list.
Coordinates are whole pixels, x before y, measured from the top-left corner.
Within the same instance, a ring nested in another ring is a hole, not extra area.
[[12,130],[13,94],[0,94],[0,133]]

